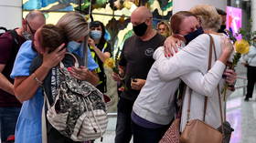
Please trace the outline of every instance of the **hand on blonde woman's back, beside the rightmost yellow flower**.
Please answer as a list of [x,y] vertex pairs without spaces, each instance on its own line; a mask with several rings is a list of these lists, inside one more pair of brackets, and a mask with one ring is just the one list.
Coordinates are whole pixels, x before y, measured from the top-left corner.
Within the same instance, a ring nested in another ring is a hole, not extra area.
[[219,60],[222,63],[226,64],[230,54],[234,51],[234,47],[228,38],[223,37],[221,39],[221,48],[222,48],[222,54],[219,57]]

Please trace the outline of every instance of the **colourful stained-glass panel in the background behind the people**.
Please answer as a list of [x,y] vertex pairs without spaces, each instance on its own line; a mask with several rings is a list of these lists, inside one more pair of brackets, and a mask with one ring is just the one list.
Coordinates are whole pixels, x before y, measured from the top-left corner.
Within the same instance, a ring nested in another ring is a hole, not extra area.
[[[91,5],[91,16],[88,15]],[[78,10],[81,14],[91,17],[92,20],[101,21],[106,26],[106,39],[112,44],[113,56],[118,48],[122,49],[123,41],[133,36],[133,26],[130,15],[139,5],[146,5],[153,13],[153,24],[162,20],[168,21],[172,15],[172,0],[23,0],[23,16],[30,10],[44,11],[48,24],[56,24],[62,15],[69,11]],[[109,90],[116,90],[112,87]],[[112,107],[110,112],[116,112],[117,94],[112,94]]]

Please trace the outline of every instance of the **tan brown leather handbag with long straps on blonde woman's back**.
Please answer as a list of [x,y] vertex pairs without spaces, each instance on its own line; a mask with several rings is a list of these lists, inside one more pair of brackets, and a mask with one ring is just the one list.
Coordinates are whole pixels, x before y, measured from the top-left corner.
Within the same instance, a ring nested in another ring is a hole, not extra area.
[[[210,36],[210,49],[209,49],[209,59],[208,59],[208,70],[211,67],[211,59],[212,59],[212,48],[214,48],[215,58],[216,50],[214,46],[213,38]],[[219,88],[219,86],[218,86]],[[203,121],[199,119],[189,120],[190,116],[190,104],[191,104],[191,93],[192,89],[189,88],[188,91],[188,107],[187,107],[187,125],[184,131],[181,134],[180,142],[181,143],[222,143],[223,136],[216,128],[212,128],[208,124],[206,124],[205,117],[206,117],[206,110],[208,105],[208,97],[205,97],[205,105],[204,105],[204,117]],[[220,119],[221,124],[223,123],[222,117],[222,107],[220,102],[220,94],[219,94],[219,110],[220,110]],[[223,130],[223,128],[222,128]]]

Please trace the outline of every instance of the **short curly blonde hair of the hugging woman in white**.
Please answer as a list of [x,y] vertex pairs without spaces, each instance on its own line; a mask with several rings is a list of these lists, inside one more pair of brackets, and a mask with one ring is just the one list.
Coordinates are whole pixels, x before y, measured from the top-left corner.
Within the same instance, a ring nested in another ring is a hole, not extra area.
[[221,17],[214,6],[196,5],[190,9],[190,12],[199,17],[203,29],[219,30]]

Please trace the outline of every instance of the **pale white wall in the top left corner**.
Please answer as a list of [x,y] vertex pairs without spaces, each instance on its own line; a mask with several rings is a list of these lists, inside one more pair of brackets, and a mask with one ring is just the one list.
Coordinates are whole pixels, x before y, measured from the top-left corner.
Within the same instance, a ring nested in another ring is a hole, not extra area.
[[0,0],[0,26],[8,29],[21,26],[22,0]]

